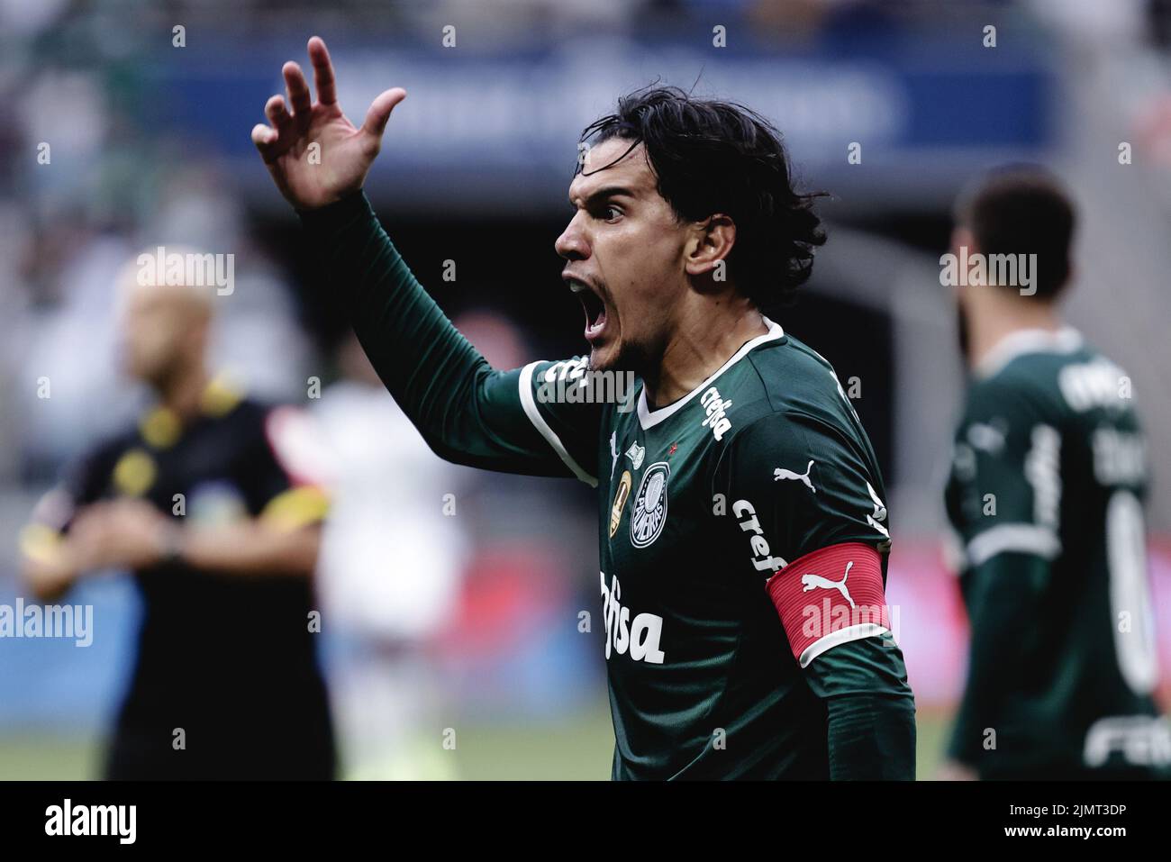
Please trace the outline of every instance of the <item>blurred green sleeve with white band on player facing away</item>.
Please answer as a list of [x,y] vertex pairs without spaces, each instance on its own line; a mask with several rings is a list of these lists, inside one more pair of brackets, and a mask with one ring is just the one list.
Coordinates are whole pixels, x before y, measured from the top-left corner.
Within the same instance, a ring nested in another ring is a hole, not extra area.
[[993,734],[1007,730],[1007,698],[1029,686],[1023,662],[1061,550],[1061,432],[1049,405],[1009,378],[979,382],[956,438],[950,512],[972,641],[949,755],[981,774],[1004,761]]

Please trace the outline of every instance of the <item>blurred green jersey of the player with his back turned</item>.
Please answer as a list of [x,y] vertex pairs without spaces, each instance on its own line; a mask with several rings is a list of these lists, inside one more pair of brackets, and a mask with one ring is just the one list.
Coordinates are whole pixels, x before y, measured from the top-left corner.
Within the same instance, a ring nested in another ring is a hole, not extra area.
[[1080,335],[1025,330],[977,370],[946,492],[972,620],[952,755],[981,775],[1171,761],[1130,381]]

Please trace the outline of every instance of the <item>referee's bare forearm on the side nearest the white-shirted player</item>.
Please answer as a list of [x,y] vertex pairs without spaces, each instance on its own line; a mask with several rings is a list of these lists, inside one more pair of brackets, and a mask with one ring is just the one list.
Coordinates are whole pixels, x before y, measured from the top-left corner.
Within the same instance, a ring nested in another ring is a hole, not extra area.
[[205,572],[244,577],[309,577],[316,568],[320,548],[319,525],[288,532],[252,520],[222,527],[179,528],[173,549],[184,565]]

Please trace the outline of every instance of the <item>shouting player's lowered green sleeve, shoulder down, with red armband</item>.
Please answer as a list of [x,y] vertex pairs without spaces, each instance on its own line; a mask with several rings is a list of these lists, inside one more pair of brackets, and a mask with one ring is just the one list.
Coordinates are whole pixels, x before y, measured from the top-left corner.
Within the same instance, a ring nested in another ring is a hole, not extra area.
[[[776,481],[774,464],[808,465],[813,487]],[[776,661],[796,661],[826,705],[835,780],[915,779],[915,696],[886,613],[881,487],[830,426],[797,413],[744,429],[717,471],[714,490],[752,501],[783,563],[763,573],[793,651]],[[834,614],[820,610],[823,601]]]

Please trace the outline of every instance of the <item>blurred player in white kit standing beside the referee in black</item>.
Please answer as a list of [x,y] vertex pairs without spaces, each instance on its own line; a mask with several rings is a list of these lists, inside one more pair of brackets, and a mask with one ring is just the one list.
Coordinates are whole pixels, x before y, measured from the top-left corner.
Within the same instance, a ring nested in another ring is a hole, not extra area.
[[466,557],[456,468],[427,449],[352,336],[338,363],[344,378],[310,402],[302,438],[333,490],[317,586],[342,774],[454,778],[443,748],[453,719],[430,648],[452,621]]

